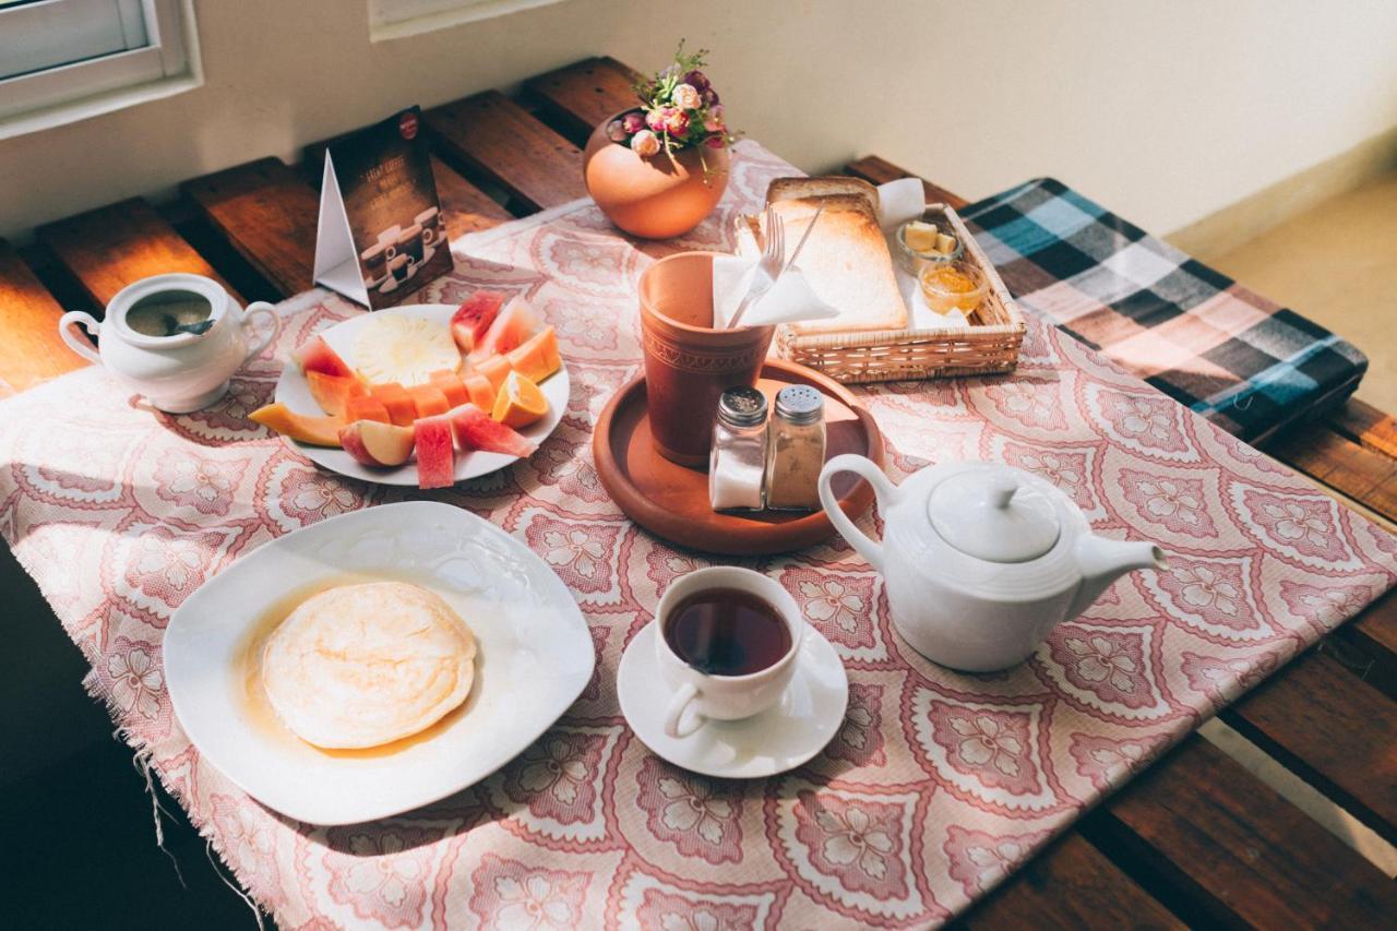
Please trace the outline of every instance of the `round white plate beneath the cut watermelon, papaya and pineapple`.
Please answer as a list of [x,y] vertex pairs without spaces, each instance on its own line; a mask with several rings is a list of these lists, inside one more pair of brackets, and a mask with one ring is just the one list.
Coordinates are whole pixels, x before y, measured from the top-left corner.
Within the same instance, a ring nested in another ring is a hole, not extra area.
[[[448,326],[451,315],[455,313],[455,305],[411,303],[373,313],[360,313],[327,330],[321,330],[320,335],[326,338],[330,348],[338,352],[345,362],[355,365],[353,344],[359,337],[359,331],[373,316],[384,313],[439,320],[441,326]],[[539,389],[543,391],[543,397],[548,398],[548,414],[543,419],[520,431],[524,438],[534,443],[542,443],[548,439],[563,419],[563,411],[567,408],[567,397],[571,390],[571,382],[567,377],[567,365],[564,363],[559,372],[545,379],[539,384]],[[277,400],[298,414],[321,412],[320,405],[316,404],[316,398],[310,396],[310,384],[306,382],[306,376],[292,362],[286,363],[281,372],[281,380],[277,382]],[[332,472],[339,472],[341,475],[348,475],[349,478],[362,478],[366,482],[379,482],[380,485],[405,485],[411,488],[416,488],[418,485],[418,463],[415,459],[409,459],[407,464],[397,468],[372,468],[355,460],[353,456],[342,449],[310,446],[293,439],[286,439],[286,442],[317,466],[328,468]],[[458,454],[455,459],[455,481],[464,482],[468,478],[489,475],[517,460],[517,456],[506,456],[504,453],[474,452],[464,456]]]

